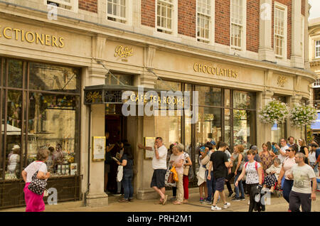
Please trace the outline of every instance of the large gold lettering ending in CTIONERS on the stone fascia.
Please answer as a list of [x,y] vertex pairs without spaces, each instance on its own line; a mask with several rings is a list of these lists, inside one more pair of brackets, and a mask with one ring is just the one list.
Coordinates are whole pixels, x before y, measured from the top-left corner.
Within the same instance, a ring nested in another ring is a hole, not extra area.
[[55,37],[47,34],[39,34],[33,31],[24,31],[23,29],[11,28],[9,26],[0,26],[0,38],[14,39],[16,41],[27,43],[41,43],[41,45],[48,45],[58,48],[63,48],[65,43],[62,37]]

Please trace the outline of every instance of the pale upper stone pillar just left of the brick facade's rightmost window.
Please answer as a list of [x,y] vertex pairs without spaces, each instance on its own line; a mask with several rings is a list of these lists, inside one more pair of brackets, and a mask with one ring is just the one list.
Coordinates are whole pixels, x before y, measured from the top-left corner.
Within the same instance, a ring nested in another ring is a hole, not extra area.
[[259,60],[275,61],[272,41],[272,0],[260,0]]

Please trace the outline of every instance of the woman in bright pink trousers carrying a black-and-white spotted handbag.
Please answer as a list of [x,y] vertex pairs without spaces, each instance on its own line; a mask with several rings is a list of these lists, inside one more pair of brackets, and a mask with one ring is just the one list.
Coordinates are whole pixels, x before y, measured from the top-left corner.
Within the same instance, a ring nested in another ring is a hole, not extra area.
[[[24,198],[26,200],[26,212],[43,212],[45,210],[45,204],[43,202],[43,187],[46,186],[46,181],[50,177],[50,173],[48,172],[47,165],[45,163],[48,159],[49,153],[50,151],[48,151],[48,149],[39,149],[36,156],[37,160],[29,164],[21,173],[23,181],[26,183],[23,188]],[[37,184],[42,184],[42,186],[37,188]]]

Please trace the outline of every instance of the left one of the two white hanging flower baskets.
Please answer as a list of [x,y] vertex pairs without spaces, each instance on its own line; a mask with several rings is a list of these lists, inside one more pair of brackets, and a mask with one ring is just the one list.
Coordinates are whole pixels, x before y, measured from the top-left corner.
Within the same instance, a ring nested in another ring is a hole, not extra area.
[[287,104],[272,100],[259,112],[260,122],[264,124],[283,124],[289,116],[289,108]]

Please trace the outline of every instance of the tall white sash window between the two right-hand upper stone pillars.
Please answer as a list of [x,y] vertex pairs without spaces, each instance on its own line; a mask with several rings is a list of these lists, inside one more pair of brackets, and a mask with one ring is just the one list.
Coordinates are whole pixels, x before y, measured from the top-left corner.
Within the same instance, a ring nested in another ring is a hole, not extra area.
[[276,57],[283,58],[285,52],[286,9],[274,6],[274,53]]

